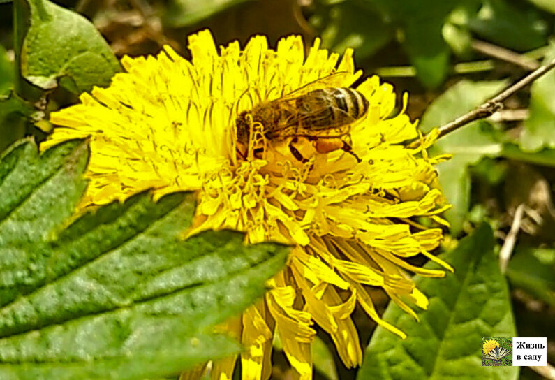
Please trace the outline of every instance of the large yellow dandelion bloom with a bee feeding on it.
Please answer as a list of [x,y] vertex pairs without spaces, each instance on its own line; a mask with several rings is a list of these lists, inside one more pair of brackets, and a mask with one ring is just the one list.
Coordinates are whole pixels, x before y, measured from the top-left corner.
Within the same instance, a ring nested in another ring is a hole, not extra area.
[[[406,96],[401,112],[392,115],[391,85],[372,76],[357,86],[369,109],[342,138],[360,162],[341,149],[320,153],[318,141],[303,136],[295,145],[304,157],[299,160],[288,146],[291,138],[267,139],[264,131],[272,125],[253,120],[252,137],[242,146],[236,122],[241,112],[332,73],[343,73],[336,87],[352,86],[361,76],[352,50],[340,59],[320,49],[317,39],[305,56],[299,36],[283,38],[276,50],[262,36],[244,50],[238,42],[218,48],[209,31],[188,42],[191,61],[168,46],[156,57],[124,57],[126,73],[115,75],[110,87],[82,94],[80,104],[52,114],[57,128],[43,148],[89,137],[89,187],[81,207],[149,188],[157,197],[194,190],[198,205],[188,235],[232,228],[244,231],[248,242],[293,244],[286,269],[272,279],[265,298],[225,324],[247,347],[240,354],[243,379],[268,379],[276,334],[299,377],[311,379],[314,323],[331,335],[347,367],[360,365],[350,318],[357,304],[405,337],[380,319],[369,289],[383,288],[416,317],[407,302],[426,308],[428,301],[408,273],[444,272],[405,258],[422,254],[450,269],[429,253],[441,229],[413,218],[445,224],[438,216],[446,206],[434,169],[445,157],[427,155],[433,138],[415,149],[404,145],[418,137],[404,112]],[[231,379],[237,359],[212,363],[212,378]]]

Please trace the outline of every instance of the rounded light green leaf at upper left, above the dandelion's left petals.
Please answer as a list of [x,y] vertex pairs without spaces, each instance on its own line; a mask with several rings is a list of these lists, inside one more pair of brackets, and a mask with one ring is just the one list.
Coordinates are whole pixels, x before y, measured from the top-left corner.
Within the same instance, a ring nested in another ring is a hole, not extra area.
[[86,18],[48,0],[16,0],[14,6],[18,14],[29,7],[28,29],[19,26],[24,37],[18,64],[33,85],[53,89],[64,78],[64,87],[80,93],[108,86],[120,71],[108,43]]

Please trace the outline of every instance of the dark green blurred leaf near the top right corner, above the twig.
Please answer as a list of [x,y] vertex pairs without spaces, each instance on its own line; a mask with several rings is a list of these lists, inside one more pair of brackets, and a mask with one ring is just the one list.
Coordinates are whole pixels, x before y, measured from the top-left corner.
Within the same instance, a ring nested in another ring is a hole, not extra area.
[[468,26],[487,41],[519,52],[547,43],[548,24],[540,13],[531,7],[514,5],[512,1],[484,1]]

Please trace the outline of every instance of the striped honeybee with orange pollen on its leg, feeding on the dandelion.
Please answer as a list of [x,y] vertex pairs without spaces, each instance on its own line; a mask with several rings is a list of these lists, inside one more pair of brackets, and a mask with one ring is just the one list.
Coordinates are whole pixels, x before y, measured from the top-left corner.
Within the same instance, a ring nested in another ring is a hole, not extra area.
[[360,162],[345,138],[350,126],[367,114],[369,102],[357,90],[339,87],[348,75],[345,72],[327,75],[281,98],[244,110],[235,122],[237,141],[248,145],[251,125],[259,123],[267,140],[290,138],[291,154],[303,163],[309,160],[295,148],[298,138],[313,141],[318,153],[341,149]]

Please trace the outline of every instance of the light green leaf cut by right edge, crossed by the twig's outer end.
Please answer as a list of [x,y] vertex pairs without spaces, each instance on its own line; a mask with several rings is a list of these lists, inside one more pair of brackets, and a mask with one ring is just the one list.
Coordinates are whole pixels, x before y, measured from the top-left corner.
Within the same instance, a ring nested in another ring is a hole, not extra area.
[[[555,59],[555,44],[550,45],[545,63]],[[520,146],[524,151],[537,152],[555,148],[555,71],[533,82],[530,89],[530,117],[524,122]]]

